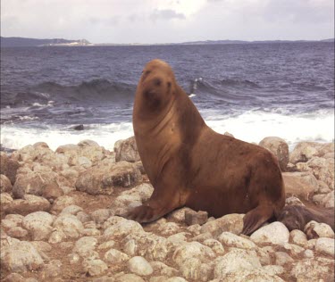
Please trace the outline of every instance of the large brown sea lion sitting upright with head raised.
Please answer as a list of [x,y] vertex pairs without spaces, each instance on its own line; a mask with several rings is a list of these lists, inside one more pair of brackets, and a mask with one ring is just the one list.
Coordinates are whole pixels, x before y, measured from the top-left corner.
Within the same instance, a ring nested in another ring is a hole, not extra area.
[[210,129],[166,62],[148,62],[142,72],[133,128],[154,193],[126,218],[150,222],[182,206],[214,217],[246,213],[242,233],[247,235],[284,206],[276,157]]

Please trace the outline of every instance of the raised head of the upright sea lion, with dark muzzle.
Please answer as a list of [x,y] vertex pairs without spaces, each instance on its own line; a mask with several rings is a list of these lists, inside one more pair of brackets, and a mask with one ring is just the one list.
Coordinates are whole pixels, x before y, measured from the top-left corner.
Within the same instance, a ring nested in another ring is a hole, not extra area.
[[176,82],[170,65],[155,59],[148,62],[138,81],[134,112],[151,117],[172,104]]

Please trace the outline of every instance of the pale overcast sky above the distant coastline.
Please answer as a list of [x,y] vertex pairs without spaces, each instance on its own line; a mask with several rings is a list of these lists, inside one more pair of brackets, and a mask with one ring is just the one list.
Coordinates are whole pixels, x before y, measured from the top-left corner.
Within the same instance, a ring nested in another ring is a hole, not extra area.
[[92,43],[334,37],[334,0],[1,0],[1,35]]

